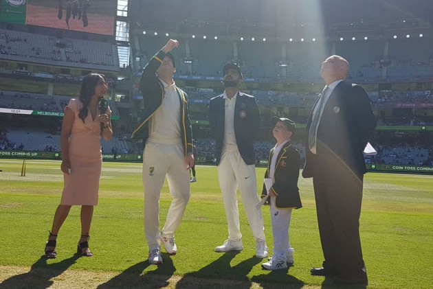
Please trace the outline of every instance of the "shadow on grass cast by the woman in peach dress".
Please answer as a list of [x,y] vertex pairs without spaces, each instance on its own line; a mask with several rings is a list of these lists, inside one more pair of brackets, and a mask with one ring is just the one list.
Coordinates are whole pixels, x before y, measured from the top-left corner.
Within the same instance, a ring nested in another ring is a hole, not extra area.
[[79,257],[80,255],[73,255],[58,263],[47,264],[47,258],[43,255],[32,265],[29,272],[6,279],[0,284],[0,288],[48,288],[54,284],[51,279],[65,272]]

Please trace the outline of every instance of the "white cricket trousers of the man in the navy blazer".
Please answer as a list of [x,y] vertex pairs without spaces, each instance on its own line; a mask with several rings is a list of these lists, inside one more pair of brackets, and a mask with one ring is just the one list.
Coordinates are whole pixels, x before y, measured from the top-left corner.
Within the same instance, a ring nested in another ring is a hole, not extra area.
[[218,165],[218,178],[223,195],[229,240],[236,241],[242,238],[236,198],[237,189],[241,192],[243,207],[254,238],[265,240],[262,211],[256,208],[256,203],[260,199],[257,193],[255,165],[247,165],[238,150],[223,152]]

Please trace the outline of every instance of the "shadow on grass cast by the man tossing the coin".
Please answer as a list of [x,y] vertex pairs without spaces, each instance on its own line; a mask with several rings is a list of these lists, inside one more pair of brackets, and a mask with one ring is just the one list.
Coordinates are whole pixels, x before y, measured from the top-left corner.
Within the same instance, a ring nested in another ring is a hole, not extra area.
[[[173,276],[176,271],[173,266],[173,260],[167,253],[162,253],[164,264],[160,266],[152,265],[147,260],[137,263],[122,273],[113,277],[104,284],[98,286],[98,289],[108,288],[163,288],[169,285],[168,279]],[[157,268],[142,275],[143,271],[149,266]]]

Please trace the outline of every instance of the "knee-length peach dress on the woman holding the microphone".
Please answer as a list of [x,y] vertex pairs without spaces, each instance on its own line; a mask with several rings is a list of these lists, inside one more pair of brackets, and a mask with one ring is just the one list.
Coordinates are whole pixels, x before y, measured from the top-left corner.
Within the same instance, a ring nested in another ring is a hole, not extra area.
[[[60,205],[98,205],[99,181],[102,170],[100,122],[93,121],[91,113],[85,122],[78,116],[82,103],[71,99],[67,105],[74,113],[69,137],[71,174],[63,174],[64,187]],[[100,114],[98,110],[97,115]],[[107,115],[111,115],[110,108]]]

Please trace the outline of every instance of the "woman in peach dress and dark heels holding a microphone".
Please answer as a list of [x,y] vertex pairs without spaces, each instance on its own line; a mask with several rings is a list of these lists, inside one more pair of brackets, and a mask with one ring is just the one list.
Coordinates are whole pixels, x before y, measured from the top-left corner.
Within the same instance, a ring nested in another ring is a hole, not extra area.
[[[65,108],[60,134],[60,168],[64,176],[64,187],[45,246],[47,258],[54,259],[57,255],[57,234],[72,205],[81,206],[81,238],[77,253],[86,257],[93,255],[89,250],[88,241],[93,206],[98,205],[102,169],[100,136],[108,141],[113,135],[110,108],[102,114],[98,108],[98,102],[107,90],[104,76],[90,73],[82,80],[80,97],[71,99]],[[104,127],[102,131],[101,123]]]

